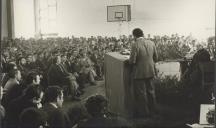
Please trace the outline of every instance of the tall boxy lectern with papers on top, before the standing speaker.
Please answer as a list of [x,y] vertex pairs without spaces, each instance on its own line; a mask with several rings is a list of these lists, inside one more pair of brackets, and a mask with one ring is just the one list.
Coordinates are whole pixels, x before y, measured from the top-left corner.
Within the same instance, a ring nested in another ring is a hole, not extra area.
[[119,116],[132,117],[133,88],[130,86],[130,66],[125,63],[129,56],[117,52],[105,55],[105,88],[108,109]]

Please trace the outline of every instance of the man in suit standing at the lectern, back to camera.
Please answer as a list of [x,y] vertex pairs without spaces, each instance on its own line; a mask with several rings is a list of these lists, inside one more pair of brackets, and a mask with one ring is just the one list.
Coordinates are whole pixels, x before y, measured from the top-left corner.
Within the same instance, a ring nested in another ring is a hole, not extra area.
[[155,76],[157,50],[152,41],[144,39],[141,29],[136,28],[132,33],[135,43],[132,45],[129,63],[132,65],[134,116],[143,118],[152,116],[155,112],[156,96],[152,81]]

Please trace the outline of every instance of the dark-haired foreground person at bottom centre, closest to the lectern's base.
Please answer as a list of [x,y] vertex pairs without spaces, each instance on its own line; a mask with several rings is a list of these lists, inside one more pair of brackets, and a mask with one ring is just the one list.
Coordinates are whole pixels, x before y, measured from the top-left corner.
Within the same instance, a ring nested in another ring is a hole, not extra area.
[[78,128],[130,128],[131,125],[121,117],[107,117],[108,101],[101,95],[91,96],[86,101],[90,118]]

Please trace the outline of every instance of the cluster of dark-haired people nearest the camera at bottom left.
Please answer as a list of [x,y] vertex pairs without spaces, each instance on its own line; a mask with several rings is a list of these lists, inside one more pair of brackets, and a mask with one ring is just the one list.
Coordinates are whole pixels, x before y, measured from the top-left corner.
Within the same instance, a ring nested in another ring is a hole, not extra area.
[[[0,88],[1,97],[3,88]],[[1,98],[0,97],[0,98]],[[102,95],[90,96],[84,106],[62,109],[63,89],[49,86],[43,90],[38,84],[23,89],[5,107],[0,105],[2,128],[131,128],[125,119],[110,116],[108,101]]]

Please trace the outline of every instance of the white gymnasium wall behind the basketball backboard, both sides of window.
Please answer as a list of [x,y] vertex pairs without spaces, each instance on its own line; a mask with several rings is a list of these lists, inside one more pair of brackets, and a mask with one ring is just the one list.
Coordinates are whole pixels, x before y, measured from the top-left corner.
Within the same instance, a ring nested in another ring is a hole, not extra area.
[[[33,0],[14,1],[16,36],[33,36]],[[132,21],[120,31],[118,23],[107,22],[106,6],[128,3]],[[58,0],[57,23],[60,36],[118,36],[141,27],[146,34],[192,33],[205,39],[214,35],[215,0]]]

